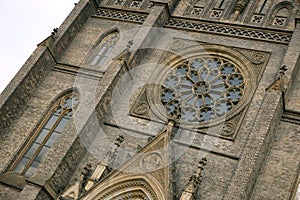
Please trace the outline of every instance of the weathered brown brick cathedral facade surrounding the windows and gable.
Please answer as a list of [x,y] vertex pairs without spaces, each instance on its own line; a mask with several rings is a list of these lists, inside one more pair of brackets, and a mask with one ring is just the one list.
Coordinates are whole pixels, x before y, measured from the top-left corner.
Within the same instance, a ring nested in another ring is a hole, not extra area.
[[[299,9],[296,0],[281,4],[276,0],[265,5],[259,1],[238,1],[242,8],[236,1],[222,1],[222,5],[218,5],[221,1],[117,1],[101,1],[101,8],[96,8],[98,1],[81,0],[58,33],[39,45],[2,93],[1,173],[12,170],[59,95],[73,88],[79,93],[80,104],[35,175],[27,178],[25,187],[19,191],[24,184],[15,187],[1,183],[0,198],[57,197],[75,183],[86,164],[91,163],[95,169],[121,135],[124,142],[104,176],[117,170],[149,144],[168,121],[153,109],[161,104],[161,94],[147,89],[159,82],[153,81],[157,77],[164,77],[160,70],[211,49],[214,55],[235,56],[236,64],[247,63],[244,70],[251,68],[253,73],[245,80],[254,84],[247,96],[248,104],[230,119],[227,116],[217,126],[209,127],[211,132],[205,132],[204,127],[175,125],[171,165],[176,176],[170,180],[175,199],[181,196],[204,156],[208,162],[196,199],[292,197],[297,188],[300,152],[300,33],[299,27],[294,26]],[[285,24],[278,26],[279,22],[273,22],[283,7],[289,16]],[[97,14],[97,9],[102,14]],[[234,10],[239,12],[233,13]],[[107,65],[86,65],[101,39],[112,31],[118,31],[120,39]],[[133,45],[128,53],[113,59],[130,40]],[[285,101],[281,99],[280,87],[272,88],[283,64],[288,68],[283,83]],[[246,74],[243,70],[241,73]],[[154,101],[158,103],[151,103],[151,98],[158,99]],[[135,110],[130,113],[132,108]],[[231,137],[218,137],[218,129],[226,123],[236,132]],[[151,165],[144,166],[152,169]],[[160,176],[154,178],[163,182]]]

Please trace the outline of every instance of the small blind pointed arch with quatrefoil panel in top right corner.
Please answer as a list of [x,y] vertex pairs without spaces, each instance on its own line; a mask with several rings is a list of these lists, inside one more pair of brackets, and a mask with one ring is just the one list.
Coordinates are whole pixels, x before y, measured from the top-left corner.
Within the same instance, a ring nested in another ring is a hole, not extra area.
[[277,27],[286,27],[293,14],[294,6],[288,2],[283,1],[275,5],[269,16],[268,24]]

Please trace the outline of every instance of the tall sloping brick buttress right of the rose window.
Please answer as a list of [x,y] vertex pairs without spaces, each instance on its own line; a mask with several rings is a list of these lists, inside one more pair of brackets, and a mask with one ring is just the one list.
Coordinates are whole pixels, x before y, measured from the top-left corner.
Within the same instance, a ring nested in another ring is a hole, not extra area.
[[250,198],[281,114],[281,93],[267,91],[224,200]]

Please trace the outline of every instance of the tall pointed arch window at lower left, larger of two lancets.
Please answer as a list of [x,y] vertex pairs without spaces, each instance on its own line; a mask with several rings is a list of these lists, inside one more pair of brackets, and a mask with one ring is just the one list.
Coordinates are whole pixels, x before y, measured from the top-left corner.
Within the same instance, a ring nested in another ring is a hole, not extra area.
[[67,94],[56,102],[17,159],[13,171],[25,177],[31,177],[34,174],[72,117],[78,103],[79,98],[75,93]]

